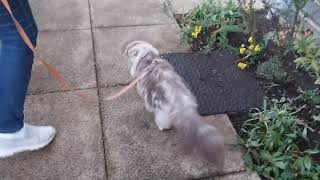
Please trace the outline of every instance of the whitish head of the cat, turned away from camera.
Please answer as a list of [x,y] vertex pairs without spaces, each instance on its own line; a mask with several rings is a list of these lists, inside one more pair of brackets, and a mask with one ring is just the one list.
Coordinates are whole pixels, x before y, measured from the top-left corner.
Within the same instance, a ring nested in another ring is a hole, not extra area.
[[137,75],[140,61],[149,53],[159,55],[159,51],[145,41],[133,41],[126,46],[124,55],[128,57],[130,75],[132,77]]

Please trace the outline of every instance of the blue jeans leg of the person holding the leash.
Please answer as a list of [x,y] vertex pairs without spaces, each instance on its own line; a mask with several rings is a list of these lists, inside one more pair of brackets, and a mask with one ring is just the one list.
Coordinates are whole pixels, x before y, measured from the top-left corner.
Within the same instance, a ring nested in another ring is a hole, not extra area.
[[[38,29],[28,0],[8,0],[11,10],[31,42]],[[23,127],[23,106],[33,64],[33,53],[24,43],[4,6],[0,3],[0,133]]]

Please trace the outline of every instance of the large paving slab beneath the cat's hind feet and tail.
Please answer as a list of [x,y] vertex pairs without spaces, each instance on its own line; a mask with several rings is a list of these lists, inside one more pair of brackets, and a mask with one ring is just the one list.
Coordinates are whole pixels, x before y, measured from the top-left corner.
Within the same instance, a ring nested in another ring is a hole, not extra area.
[[[119,88],[102,89],[105,98]],[[217,169],[182,148],[174,130],[159,131],[136,91],[102,103],[108,179],[187,179],[217,175]],[[235,130],[226,115],[210,116],[228,144]],[[241,153],[228,150],[223,173],[244,170]]]

